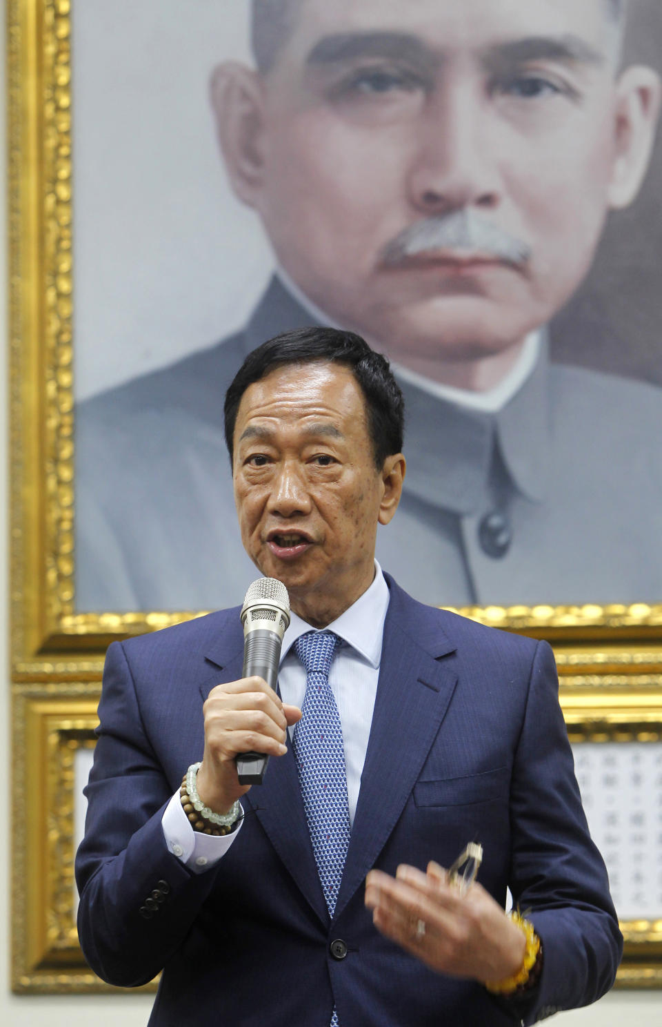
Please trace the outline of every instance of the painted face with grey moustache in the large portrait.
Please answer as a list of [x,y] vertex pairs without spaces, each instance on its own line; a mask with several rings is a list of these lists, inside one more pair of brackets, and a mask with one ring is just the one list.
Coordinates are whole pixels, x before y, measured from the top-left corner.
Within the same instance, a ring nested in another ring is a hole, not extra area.
[[264,82],[249,197],[281,265],[431,374],[519,343],[602,229],[613,33],[603,0],[304,0]]

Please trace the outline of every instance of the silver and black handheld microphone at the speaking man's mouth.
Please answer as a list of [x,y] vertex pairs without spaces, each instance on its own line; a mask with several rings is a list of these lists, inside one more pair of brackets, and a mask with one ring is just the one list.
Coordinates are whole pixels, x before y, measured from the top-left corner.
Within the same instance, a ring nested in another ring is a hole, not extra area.
[[[289,624],[289,596],[276,578],[258,578],[241,607],[244,678],[257,675],[276,689],[282,638]],[[262,785],[269,757],[264,753],[235,756],[240,785]]]

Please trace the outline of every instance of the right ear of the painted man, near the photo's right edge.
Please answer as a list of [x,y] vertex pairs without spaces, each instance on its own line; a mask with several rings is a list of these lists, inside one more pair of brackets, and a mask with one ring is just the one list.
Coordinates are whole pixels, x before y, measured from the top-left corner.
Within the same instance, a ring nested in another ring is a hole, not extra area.
[[649,168],[662,83],[652,68],[628,68],[616,85],[615,155],[608,196],[612,210],[632,202]]

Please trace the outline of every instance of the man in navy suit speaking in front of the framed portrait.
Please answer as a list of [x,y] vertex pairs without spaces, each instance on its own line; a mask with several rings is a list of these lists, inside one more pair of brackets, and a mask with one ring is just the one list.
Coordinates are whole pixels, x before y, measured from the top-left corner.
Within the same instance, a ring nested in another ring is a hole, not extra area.
[[[533,1023],[614,982],[622,939],[551,650],[423,606],[375,562],[402,408],[387,362],[333,329],[265,343],[228,390],[243,546],[290,599],[278,692],[241,677],[236,608],[109,650],[79,933],[107,981],[163,972],[153,1025]],[[342,855],[302,768],[300,645],[328,632],[312,754],[338,723]],[[274,757],[260,788],[238,782],[249,751]],[[465,891],[442,868],[468,842],[484,857]]]

